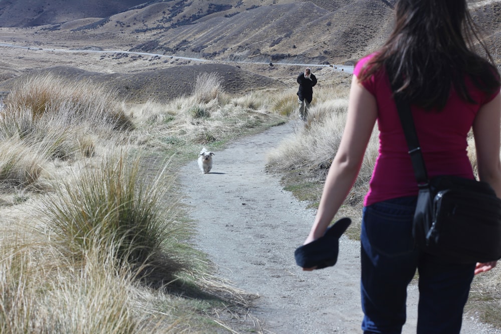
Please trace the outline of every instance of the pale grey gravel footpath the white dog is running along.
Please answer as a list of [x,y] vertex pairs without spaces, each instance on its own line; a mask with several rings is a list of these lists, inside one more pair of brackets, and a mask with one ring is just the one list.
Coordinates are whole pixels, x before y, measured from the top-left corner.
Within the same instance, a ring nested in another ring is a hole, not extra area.
[[[263,333],[360,333],[359,243],[342,237],[334,267],[302,271],[294,250],[315,211],[265,171],[267,152],[293,134],[293,123],[215,152],[209,174],[202,174],[196,161],[185,166],[181,183],[185,202],[193,207],[190,216],[199,222],[196,244],[223,277],[260,295],[253,315]],[[410,286],[405,334],[415,332],[417,298],[417,287]],[[461,333],[501,331],[465,315]]]

